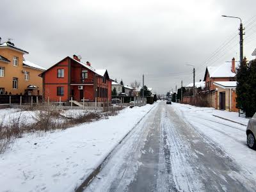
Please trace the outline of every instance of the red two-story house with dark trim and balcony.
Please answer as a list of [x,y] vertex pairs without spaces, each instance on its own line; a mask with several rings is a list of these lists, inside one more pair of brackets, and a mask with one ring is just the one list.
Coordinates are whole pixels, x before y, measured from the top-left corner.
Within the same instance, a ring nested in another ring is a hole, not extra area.
[[111,80],[106,69],[96,70],[90,62],[82,63],[74,55],[67,56],[40,76],[43,79],[43,97],[56,102],[111,100]]

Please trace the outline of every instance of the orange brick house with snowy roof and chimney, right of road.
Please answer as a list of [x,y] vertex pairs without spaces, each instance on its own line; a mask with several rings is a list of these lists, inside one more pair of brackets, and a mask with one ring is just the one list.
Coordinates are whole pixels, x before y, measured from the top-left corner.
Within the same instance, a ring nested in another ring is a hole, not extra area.
[[236,108],[236,61],[205,70],[205,92],[212,108],[238,111]]

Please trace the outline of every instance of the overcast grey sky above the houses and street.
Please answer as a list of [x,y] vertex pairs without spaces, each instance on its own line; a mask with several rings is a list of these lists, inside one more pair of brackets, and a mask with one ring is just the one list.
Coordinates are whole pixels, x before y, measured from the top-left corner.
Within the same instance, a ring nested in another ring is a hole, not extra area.
[[1,0],[0,6],[2,41],[13,38],[29,61],[48,68],[80,54],[125,84],[142,82],[144,73],[157,93],[174,90],[181,80],[192,83],[187,63],[196,66],[199,81],[207,65],[239,60],[239,20],[221,15],[243,19],[247,58],[256,48],[255,0]]

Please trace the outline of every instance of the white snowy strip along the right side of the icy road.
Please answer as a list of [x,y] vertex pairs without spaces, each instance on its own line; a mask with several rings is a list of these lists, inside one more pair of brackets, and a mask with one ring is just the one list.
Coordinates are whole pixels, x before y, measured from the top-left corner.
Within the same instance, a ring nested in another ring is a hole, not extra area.
[[[247,169],[256,178],[256,151],[246,144],[246,126],[248,120],[239,117],[238,113],[220,111],[213,108],[198,108],[186,104],[173,104],[172,108],[197,131],[202,133],[206,141],[214,141],[216,145],[232,157],[244,169]],[[243,122],[245,125],[223,120],[213,115],[230,119],[234,122]]]

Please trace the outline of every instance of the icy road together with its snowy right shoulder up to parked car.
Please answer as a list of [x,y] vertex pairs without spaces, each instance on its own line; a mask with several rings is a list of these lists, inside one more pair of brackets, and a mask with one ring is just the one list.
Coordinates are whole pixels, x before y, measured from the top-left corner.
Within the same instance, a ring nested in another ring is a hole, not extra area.
[[212,111],[160,102],[85,191],[255,191],[246,127]]

